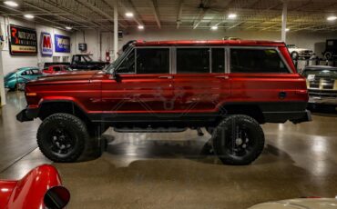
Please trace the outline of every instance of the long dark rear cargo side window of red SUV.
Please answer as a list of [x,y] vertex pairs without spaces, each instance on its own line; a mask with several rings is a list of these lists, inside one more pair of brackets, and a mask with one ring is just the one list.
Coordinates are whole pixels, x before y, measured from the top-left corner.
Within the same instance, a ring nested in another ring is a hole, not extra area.
[[230,49],[231,73],[289,73],[275,49]]

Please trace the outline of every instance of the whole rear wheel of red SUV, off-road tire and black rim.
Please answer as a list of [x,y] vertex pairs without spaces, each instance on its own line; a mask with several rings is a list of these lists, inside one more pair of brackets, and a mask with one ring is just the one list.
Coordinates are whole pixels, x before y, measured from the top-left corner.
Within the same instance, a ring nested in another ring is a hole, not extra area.
[[[247,134],[244,134],[245,137],[237,137],[236,130],[243,130],[243,133]],[[235,137],[232,137],[233,135]],[[233,154],[236,152],[234,150],[240,148],[236,140],[245,141],[247,148],[241,147],[242,155]],[[250,164],[263,151],[264,134],[260,124],[254,118],[244,114],[232,114],[224,118],[213,131],[211,141],[214,153],[218,155],[223,164]],[[239,148],[237,149],[236,146]]]

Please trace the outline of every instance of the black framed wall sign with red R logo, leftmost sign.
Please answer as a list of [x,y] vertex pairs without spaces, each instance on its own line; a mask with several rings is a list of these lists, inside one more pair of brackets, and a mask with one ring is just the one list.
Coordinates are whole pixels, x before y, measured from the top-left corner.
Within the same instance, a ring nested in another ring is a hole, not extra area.
[[36,30],[9,25],[9,52],[11,55],[37,55]]

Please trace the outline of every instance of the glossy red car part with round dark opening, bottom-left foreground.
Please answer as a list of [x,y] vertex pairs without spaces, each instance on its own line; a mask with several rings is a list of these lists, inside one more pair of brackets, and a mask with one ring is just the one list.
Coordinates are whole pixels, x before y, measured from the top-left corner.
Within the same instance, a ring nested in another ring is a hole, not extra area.
[[69,200],[69,191],[49,164],[32,169],[18,181],[0,180],[0,208],[61,209]]

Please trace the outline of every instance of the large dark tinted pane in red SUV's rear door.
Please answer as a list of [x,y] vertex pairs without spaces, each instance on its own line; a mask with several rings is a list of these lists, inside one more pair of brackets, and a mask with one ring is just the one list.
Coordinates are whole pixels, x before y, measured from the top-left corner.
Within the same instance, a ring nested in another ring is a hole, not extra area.
[[209,73],[209,48],[178,48],[177,73]]

